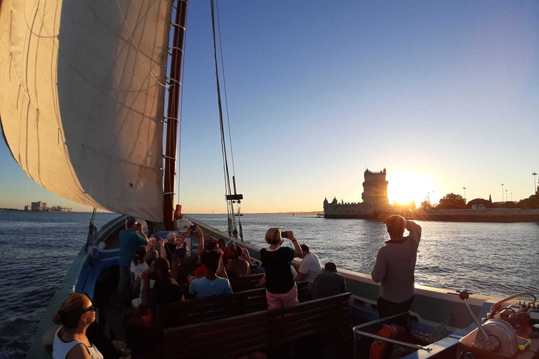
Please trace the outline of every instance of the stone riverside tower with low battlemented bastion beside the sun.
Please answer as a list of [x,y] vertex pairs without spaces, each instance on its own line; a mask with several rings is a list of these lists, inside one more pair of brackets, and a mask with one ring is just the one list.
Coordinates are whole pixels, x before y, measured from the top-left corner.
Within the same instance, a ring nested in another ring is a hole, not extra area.
[[387,198],[386,170],[380,172],[364,172],[362,203],[345,203],[333,198],[331,203],[324,200],[324,217],[326,218],[374,218],[380,213],[390,210],[390,200]]

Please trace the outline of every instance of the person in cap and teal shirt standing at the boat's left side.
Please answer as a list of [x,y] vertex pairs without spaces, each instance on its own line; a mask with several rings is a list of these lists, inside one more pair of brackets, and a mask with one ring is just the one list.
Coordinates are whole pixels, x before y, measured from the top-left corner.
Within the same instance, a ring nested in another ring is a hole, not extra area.
[[[140,233],[137,233],[137,231]],[[135,257],[137,249],[141,245],[148,244],[148,237],[144,233],[142,223],[138,223],[135,219],[129,219],[126,224],[126,229],[119,233],[119,266],[120,280],[118,283],[118,303],[124,304],[128,301],[127,294],[131,286],[131,261]]]

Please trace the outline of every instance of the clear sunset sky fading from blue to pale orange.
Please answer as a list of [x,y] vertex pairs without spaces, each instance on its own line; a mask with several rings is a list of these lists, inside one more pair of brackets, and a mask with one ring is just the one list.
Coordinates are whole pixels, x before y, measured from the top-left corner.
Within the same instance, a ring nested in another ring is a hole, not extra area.
[[[243,212],[453,192],[518,201],[539,172],[538,1],[220,1]],[[180,203],[226,212],[211,14],[190,1]],[[1,109],[0,109],[1,111]],[[232,171],[232,166],[231,166]],[[0,207],[91,210],[29,179],[2,142]],[[466,192],[463,190],[466,187]]]

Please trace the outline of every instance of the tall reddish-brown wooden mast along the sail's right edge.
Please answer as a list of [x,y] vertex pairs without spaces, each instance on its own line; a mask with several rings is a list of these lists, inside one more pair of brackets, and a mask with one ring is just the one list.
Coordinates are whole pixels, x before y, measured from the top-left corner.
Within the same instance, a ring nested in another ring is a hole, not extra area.
[[164,204],[163,222],[168,231],[173,230],[174,191],[176,175],[176,153],[178,149],[178,123],[180,116],[181,72],[183,49],[185,47],[185,26],[187,25],[187,0],[178,0],[175,11],[173,43],[171,46],[171,72],[168,84],[166,111],[166,145],[164,161]]

